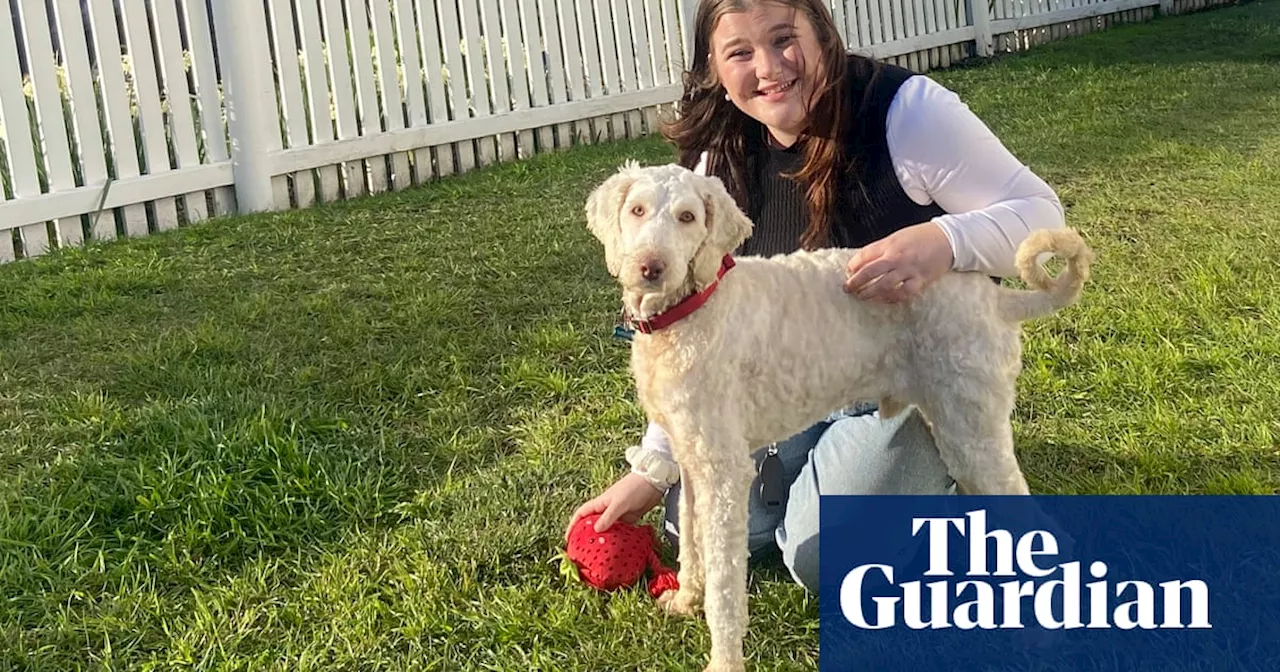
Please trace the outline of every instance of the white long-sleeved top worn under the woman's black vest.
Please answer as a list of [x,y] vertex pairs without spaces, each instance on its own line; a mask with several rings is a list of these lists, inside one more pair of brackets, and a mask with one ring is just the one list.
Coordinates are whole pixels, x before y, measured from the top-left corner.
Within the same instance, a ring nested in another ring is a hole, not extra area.
[[[1018,246],[1036,229],[1060,228],[1062,204],[955,92],[918,74],[897,90],[886,140],[902,191],[947,214],[933,221],[951,242],[952,270],[1015,276]],[[698,169],[701,172],[704,161]],[[666,433],[650,424],[641,449],[671,458]]]

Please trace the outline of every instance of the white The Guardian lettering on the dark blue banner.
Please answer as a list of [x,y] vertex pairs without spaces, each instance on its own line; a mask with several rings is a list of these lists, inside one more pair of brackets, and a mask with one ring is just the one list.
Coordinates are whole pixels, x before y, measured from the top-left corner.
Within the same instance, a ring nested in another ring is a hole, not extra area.
[[[952,529],[968,543],[968,567],[959,575],[951,558],[964,549],[950,547]],[[1027,627],[1028,621],[1048,630],[1212,628],[1204,581],[1112,582],[1107,564],[1094,561],[1085,582],[1079,561],[1052,562],[1060,553],[1053,534],[1033,530],[1015,539],[1009,530],[988,531],[986,509],[964,517],[913,517],[911,536],[920,534],[928,540],[923,576],[938,580],[899,585],[888,564],[854,567],[840,584],[846,621],[864,630],[900,623],[913,630],[1006,630]]]

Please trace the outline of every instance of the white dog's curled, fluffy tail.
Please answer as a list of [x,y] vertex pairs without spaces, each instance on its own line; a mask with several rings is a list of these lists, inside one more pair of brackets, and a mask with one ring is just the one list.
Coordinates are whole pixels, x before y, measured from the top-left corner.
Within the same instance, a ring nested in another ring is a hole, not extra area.
[[[1057,278],[1051,278],[1041,255],[1052,255],[1066,262]],[[1009,321],[1043,317],[1075,303],[1080,298],[1093,251],[1075,229],[1039,229],[1032,232],[1018,248],[1018,271],[1033,289],[1006,289],[1000,296],[1000,312]]]

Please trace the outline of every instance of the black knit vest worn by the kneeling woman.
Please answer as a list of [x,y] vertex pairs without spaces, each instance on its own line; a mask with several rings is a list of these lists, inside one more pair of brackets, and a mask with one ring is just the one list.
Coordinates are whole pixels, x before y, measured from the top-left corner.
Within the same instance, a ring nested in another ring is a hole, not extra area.
[[[888,108],[899,87],[913,74],[861,56],[849,59],[850,128],[844,147],[849,169],[841,179],[828,246],[863,247],[945,212],[937,204],[918,205],[902,191],[888,152]],[[801,143],[778,148],[767,142],[759,124],[748,124],[748,215],[755,229],[737,253],[792,252],[800,248],[808,227],[808,207],[801,186],[782,174],[800,169]]]

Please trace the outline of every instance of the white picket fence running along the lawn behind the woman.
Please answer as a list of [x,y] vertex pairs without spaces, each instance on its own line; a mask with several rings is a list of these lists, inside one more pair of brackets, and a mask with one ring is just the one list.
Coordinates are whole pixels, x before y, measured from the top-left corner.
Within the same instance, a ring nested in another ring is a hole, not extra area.
[[[850,47],[925,72],[1229,1],[831,6]],[[695,6],[0,0],[0,261],[650,133]]]

